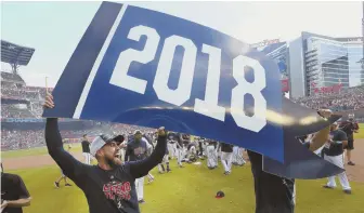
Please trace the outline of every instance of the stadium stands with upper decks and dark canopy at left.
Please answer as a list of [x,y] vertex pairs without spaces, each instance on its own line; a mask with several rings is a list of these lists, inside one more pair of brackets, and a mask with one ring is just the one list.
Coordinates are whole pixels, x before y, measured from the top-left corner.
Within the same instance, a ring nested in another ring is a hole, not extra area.
[[[18,74],[27,66],[35,49],[1,40],[1,62],[11,65],[11,71],[1,70],[1,150],[44,146],[44,124],[41,117],[46,88],[27,86]],[[48,89],[50,92],[52,88]],[[94,121],[60,119],[63,138],[79,142],[84,133],[90,138],[103,131],[128,131],[131,127]]]

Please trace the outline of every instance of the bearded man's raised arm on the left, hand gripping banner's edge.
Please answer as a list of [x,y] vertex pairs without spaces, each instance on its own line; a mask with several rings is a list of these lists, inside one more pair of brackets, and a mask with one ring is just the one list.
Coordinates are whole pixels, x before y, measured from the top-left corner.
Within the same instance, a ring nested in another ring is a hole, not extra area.
[[[53,96],[47,94],[46,108],[53,108]],[[76,160],[70,154],[68,154],[63,148],[62,137],[58,130],[58,119],[57,118],[47,118],[46,123],[46,144],[48,152],[53,158],[53,160],[60,165],[64,171],[64,174],[76,182],[76,176],[82,170],[82,163]]]

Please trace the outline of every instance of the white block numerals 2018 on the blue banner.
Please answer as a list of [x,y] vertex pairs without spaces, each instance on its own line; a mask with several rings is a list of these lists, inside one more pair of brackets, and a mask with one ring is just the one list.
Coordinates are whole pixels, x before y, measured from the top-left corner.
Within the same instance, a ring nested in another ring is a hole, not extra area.
[[[129,31],[128,39],[140,41],[142,36],[146,36],[145,46],[142,51],[128,49],[122,51],[118,57],[109,83],[144,94],[147,81],[128,75],[132,62],[147,64],[155,59],[156,52],[160,44],[160,36],[154,28],[146,26],[135,26]],[[181,77],[176,90],[168,86],[174,52],[178,46],[184,49],[184,55],[181,67]],[[205,99],[195,98],[194,111],[220,121],[225,120],[225,107],[218,105],[219,83],[221,71],[221,49],[203,44],[202,52],[208,55],[208,70],[206,79]],[[176,106],[182,106],[191,98],[192,84],[194,80],[195,64],[197,57],[197,48],[195,43],[187,38],[177,35],[170,36],[164,40],[159,63],[153,82],[160,101]],[[255,75],[255,81],[248,82],[245,79],[245,67],[251,67]],[[266,101],[262,95],[262,90],[266,86],[265,70],[259,61],[238,55],[233,58],[233,77],[237,85],[231,91],[231,115],[239,128],[259,132],[266,125]],[[250,94],[255,101],[253,116],[247,116],[244,111],[244,96]],[[227,109],[229,110],[229,109]]]

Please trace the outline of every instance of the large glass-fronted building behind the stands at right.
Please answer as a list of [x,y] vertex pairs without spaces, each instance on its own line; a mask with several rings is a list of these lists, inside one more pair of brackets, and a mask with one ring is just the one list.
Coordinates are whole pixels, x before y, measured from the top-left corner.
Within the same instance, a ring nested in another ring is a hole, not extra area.
[[320,89],[363,85],[363,38],[333,38],[303,31],[288,44],[290,94],[314,95]]

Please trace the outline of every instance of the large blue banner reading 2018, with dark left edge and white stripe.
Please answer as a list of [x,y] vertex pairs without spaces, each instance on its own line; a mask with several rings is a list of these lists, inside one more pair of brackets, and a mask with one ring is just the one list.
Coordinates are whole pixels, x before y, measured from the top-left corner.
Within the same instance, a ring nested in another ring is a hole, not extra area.
[[295,138],[332,121],[284,98],[280,77],[263,53],[216,29],[103,2],[53,91],[56,107],[43,116],[213,138],[262,154],[264,169],[282,176],[306,177],[287,172],[306,160],[325,165],[316,177],[339,173]]

